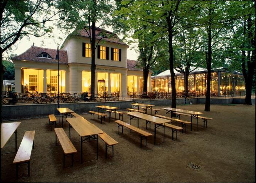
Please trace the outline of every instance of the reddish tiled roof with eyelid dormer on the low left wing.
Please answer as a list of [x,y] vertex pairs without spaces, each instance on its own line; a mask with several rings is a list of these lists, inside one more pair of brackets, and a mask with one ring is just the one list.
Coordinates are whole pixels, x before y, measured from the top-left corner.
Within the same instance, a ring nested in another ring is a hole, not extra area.
[[[52,59],[37,57],[38,55],[40,55],[43,52],[49,54],[52,57]],[[58,63],[58,60],[55,59],[56,54],[57,54],[56,49],[31,46],[26,52],[24,52],[16,57],[13,57],[12,59],[38,61],[38,62],[46,62],[46,63]],[[59,63],[60,64],[68,64],[68,54],[65,50],[59,50]]]

